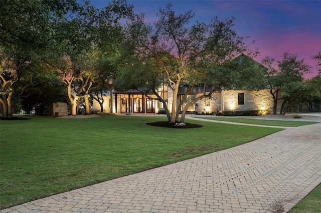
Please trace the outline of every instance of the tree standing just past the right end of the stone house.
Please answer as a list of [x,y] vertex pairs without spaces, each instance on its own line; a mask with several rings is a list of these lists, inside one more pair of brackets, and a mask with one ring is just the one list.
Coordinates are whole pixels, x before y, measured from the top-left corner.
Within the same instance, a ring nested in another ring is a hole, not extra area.
[[[268,67],[266,77],[269,82],[270,93],[273,96],[273,114],[276,114],[277,101],[283,100],[280,114],[284,114],[284,105],[291,97],[293,98],[297,93],[297,85],[301,85],[305,73],[310,72],[311,66],[304,62],[304,59],[299,60],[296,54],[290,54],[285,51],[281,60],[277,61],[278,69],[273,67],[274,58],[265,57],[262,64]],[[294,86],[295,85],[295,86]],[[293,90],[291,91],[291,88]],[[282,92],[282,96],[279,96]]]

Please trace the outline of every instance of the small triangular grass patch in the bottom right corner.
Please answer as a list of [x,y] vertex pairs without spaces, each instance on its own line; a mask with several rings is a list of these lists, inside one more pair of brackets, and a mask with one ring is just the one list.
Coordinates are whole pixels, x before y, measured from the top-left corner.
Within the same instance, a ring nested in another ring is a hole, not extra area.
[[289,213],[320,212],[321,209],[321,185],[318,185],[309,195],[300,200]]

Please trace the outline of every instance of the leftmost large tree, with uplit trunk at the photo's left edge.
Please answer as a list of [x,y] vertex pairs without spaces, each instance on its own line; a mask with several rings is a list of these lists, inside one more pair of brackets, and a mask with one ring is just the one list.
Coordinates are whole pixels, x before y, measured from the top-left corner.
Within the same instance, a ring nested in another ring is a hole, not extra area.
[[11,99],[18,99],[26,87],[34,85],[32,80],[40,68],[45,68],[43,64],[57,63],[55,59],[65,51],[68,38],[77,40],[79,36],[70,33],[72,16],[82,11],[76,0],[0,2],[0,48],[6,54],[2,57],[6,68],[1,70],[1,86],[5,89],[1,103],[8,110],[5,116],[12,116]]

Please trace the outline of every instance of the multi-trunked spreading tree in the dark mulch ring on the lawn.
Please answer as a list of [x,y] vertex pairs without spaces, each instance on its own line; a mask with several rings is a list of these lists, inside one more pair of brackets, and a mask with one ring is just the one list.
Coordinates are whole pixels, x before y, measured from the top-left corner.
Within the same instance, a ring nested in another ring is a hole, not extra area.
[[[176,14],[172,4],[159,9],[157,16],[153,26],[144,23],[141,15],[127,28],[125,54],[120,55],[122,64],[116,79],[136,88],[147,87],[164,103],[156,89],[162,83],[168,84],[174,93],[170,116],[165,108],[169,121],[184,122],[190,105],[210,97],[216,88],[232,86],[232,79],[237,74],[232,67],[235,63],[231,61],[241,52],[249,51],[249,48],[244,43],[246,37],[236,33],[234,17],[223,20],[215,17],[209,24],[196,22],[192,25],[192,11]],[[137,71],[137,67],[142,69]],[[124,78],[127,75],[140,78],[128,82]],[[183,99],[178,101],[182,83],[187,83],[189,87]],[[187,98],[197,85],[204,86],[203,94],[192,100]],[[181,107],[183,112],[179,120]]]

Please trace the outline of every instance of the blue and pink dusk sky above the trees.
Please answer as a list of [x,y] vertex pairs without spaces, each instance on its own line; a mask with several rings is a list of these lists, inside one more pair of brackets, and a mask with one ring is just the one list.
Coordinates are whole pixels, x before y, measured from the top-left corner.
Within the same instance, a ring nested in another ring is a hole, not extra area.
[[[91,0],[98,8],[106,6],[110,0]],[[127,0],[134,5],[134,12],[145,14],[146,22],[157,20],[159,8],[172,2],[178,13],[194,12],[193,21],[209,23],[212,18],[236,18],[236,31],[241,36],[249,36],[246,41],[255,40],[251,47],[258,48],[260,54],[253,58],[261,62],[264,56],[281,59],[284,51],[298,54],[298,59],[311,66],[317,74],[316,61],[312,55],[321,51],[321,0]]]

